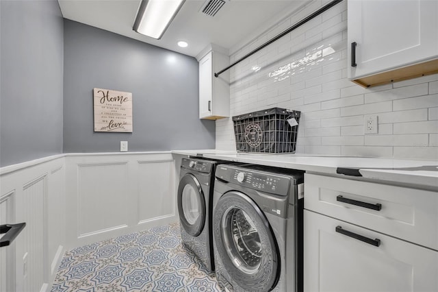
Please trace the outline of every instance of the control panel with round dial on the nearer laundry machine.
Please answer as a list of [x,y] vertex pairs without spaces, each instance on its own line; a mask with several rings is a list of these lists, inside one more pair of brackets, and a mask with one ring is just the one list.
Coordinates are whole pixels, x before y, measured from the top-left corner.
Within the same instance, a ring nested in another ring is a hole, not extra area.
[[289,192],[289,178],[280,175],[235,169],[231,180],[235,184],[241,184],[247,188],[254,188],[276,195],[287,195]]

